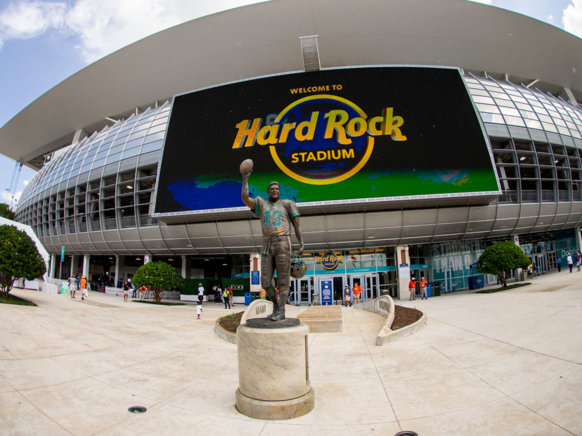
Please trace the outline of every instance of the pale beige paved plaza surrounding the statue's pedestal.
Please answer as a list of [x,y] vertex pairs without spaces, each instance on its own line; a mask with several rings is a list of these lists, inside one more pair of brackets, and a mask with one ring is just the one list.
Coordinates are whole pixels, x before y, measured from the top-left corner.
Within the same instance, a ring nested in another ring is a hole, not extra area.
[[[428,323],[382,347],[381,316],[342,308],[343,333],[310,335],[315,409],[278,422],[234,407],[236,346],[214,333],[233,310],[207,303],[196,320],[190,305],[14,290],[40,307],[0,305],[0,431],[579,435],[582,273],[533,283],[404,301]],[[127,412],[134,405],[148,410]]]

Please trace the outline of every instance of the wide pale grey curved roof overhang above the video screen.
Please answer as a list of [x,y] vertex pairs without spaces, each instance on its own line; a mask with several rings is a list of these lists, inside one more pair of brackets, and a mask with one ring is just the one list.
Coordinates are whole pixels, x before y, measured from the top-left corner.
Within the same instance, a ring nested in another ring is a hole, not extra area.
[[79,129],[99,130],[105,117],[193,89],[302,70],[299,37],[314,34],[322,67],[459,66],[582,96],[582,40],[505,9],[466,0],[272,0],[179,24],[85,67],[0,128],[0,152],[26,165],[70,144]]

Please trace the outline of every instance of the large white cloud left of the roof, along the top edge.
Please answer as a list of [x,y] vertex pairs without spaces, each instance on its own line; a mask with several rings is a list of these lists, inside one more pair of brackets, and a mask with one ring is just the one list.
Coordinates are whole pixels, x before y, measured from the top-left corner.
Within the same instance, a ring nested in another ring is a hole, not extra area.
[[0,48],[2,41],[32,38],[54,29],[79,38],[81,56],[93,62],[165,28],[249,3],[253,1],[77,0],[69,6],[17,0],[0,11]]

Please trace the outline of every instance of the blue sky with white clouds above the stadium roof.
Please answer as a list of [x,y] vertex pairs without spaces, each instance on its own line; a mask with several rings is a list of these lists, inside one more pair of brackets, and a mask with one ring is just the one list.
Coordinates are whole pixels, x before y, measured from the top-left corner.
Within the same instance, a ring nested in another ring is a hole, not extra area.
[[[249,3],[257,1],[0,0],[0,126],[71,74],[127,44]],[[582,37],[582,0],[480,3],[519,12]],[[0,202],[5,201],[14,166],[13,160],[0,155]],[[23,167],[16,198],[33,175]]]

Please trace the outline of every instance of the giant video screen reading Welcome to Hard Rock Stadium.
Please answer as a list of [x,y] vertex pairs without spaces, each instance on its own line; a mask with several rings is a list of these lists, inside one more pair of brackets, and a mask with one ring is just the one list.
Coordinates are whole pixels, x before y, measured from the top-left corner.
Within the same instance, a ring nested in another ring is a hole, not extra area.
[[492,194],[487,139],[460,71],[350,67],[254,78],[177,95],[155,214],[239,208],[251,197],[301,203]]

